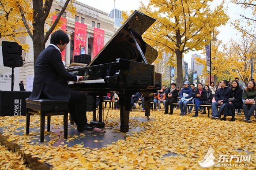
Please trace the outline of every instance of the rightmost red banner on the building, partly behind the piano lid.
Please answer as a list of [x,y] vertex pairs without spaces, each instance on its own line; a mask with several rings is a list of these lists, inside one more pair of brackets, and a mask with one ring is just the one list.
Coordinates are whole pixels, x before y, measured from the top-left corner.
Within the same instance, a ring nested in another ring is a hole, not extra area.
[[94,27],[94,41],[93,41],[93,56],[92,58],[101,51],[104,47],[104,30]]

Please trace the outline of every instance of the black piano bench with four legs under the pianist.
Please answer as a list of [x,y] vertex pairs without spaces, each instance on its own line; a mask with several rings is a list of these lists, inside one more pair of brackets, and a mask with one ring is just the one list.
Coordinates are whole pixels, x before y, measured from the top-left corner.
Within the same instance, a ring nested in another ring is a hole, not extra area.
[[45,116],[47,116],[47,132],[50,131],[51,116],[64,115],[64,138],[68,138],[68,100],[28,100],[26,99],[26,134],[29,133],[30,115],[40,116],[40,140],[44,142]]

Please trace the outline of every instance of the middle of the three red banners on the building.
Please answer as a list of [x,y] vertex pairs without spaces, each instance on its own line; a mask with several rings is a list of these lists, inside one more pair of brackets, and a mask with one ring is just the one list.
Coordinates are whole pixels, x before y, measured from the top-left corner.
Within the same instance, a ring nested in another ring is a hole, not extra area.
[[[86,54],[87,25],[75,22],[74,55]],[[83,52],[81,52],[83,49]]]

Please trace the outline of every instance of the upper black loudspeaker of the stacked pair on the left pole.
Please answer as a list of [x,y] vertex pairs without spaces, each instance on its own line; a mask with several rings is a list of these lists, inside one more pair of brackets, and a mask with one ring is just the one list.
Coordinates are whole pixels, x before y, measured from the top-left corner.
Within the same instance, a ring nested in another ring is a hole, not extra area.
[[2,41],[3,54],[22,55],[22,47],[16,42]]

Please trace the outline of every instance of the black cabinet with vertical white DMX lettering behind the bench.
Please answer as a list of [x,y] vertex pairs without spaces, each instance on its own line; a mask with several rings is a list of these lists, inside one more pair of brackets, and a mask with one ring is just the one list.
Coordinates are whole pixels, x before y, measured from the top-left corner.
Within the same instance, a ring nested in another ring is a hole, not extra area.
[[26,98],[31,92],[0,91],[0,116],[25,116]]

